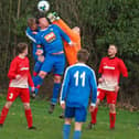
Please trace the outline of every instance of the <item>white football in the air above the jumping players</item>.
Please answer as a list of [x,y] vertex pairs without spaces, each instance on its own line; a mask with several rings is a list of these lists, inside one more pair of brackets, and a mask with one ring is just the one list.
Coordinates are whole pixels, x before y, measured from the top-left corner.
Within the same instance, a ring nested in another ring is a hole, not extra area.
[[49,1],[46,1],[46,0],[39,1],[38,9],[40,12],[47,12],[50,10]]

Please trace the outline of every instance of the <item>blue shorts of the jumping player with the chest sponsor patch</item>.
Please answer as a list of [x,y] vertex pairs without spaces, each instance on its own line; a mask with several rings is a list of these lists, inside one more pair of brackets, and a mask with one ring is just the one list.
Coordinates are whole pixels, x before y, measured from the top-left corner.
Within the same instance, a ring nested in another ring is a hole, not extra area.
[[50,73],[53,70],[54,74],[63,75],[65,70],[65,55],[52,55],[46,54],[45,61],[41,67],[41,71]]

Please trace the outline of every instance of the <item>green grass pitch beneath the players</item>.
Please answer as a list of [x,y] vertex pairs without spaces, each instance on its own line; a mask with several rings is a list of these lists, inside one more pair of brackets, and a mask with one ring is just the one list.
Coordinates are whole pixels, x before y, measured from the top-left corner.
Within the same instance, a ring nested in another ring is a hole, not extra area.
[[[0,110],[6,103],[6,97],[0,96]],[[49,103],[44,100],[31,100],[34,126],[36,131],[26,129],[26,120],[22,103],[17,99],[7,117],[3,128],[0,128],[0,139],[62,139],[62,127],[64,120],[58,119],[62,109],[60,106],[53,115],[47,114]],[[86,130],[90,116],[83,126],[82,139],[139,139],[138,113],[117,110],[116,129],[109,130],[108,108],[100,107],[95,130]],[[72,125],[71,139],[74,125]]]

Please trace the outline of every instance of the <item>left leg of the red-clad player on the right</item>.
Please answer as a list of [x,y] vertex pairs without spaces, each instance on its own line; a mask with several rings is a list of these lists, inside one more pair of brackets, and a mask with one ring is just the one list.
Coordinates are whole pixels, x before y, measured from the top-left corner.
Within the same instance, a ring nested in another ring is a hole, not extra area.
[[97,122],[97,113],[98,113],[98,105],[99,103],[105,98],[105,92],[103,89],[97,90],[97,101],[96,101],[96,108],[93,113],[90,113],[92,121],[88,124],[87,129],[92,129],[95,127]]

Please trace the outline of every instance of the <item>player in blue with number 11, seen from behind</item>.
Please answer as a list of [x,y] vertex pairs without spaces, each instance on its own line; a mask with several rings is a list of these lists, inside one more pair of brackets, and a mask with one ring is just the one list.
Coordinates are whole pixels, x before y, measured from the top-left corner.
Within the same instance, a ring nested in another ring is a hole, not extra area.
[[70,138],[72,118],[75,118],[74,139],[81,139],[89,97],[92,97],[89,110],[95,109],[97,84],[94,71],[85,64],[88,55],[86,50],[78,51],[78,63],[67,67],[64,75],[60,99],[62,108],[65,109],[63,139]]

